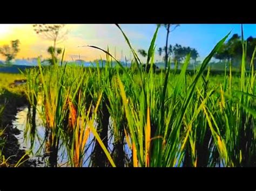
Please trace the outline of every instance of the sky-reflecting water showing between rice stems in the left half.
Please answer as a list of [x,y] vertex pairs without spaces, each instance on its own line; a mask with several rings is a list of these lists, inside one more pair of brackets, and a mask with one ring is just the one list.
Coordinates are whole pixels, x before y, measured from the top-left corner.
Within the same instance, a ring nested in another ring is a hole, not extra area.
[[[19,148],[21,150],[25,150],[28,154],[30,159],[33,160],[36,164],[35,167],[49,167],[49,155],[45,152],[45,142],[46,142],[46,132],[45,127],[43,125],[42,118],[40,116],[42,107],[40,105],[37,107],[36,115],[35,115],[35,128],[32,128],[31,121],[29,118],[29,112],[30,116],[32,115],[32,109],[29,111],[28,107],[19,108],[19,111],[16,114],[16,119],[12,122],[13,128],[17,128],[20,133],[19,135],[15,135],[18,139]],[[112,120],[110,118],[110,128],[113,125]],[[94,126],[97,126],[97,123],[94,123]],[[113,150],[113,140],[114,137],[112,136],[112,133],[108,132],[108,149],[111,152]],[[60,140],[60,148],[58,150],[58,158],[57,163],[58,166],[69,166],[69,157],[68,152],[66,150],[66,147],[62,140]],[[95,139],[92,133],[89,136],[89,139],[87,140],[86,146],[85,146],[85,157],[83,160],[83,167],[90,166],[91,162],[91,153],[93,151],[93,148],[95,146]],[[125,152],[131,157],[131,151],[127,144],[124,146]]]

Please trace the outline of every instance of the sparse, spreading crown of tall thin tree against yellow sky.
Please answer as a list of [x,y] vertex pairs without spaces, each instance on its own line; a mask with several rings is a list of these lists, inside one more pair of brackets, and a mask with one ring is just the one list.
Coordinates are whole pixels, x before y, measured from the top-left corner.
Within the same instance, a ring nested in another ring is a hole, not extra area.
[[[56,45],[66,39],[68,30],[65,30],[65,24],[36,24],[34,30],[41,37],[53,41],[53,49],[57,51]],[[57,52],[53,52],[57,54]]]

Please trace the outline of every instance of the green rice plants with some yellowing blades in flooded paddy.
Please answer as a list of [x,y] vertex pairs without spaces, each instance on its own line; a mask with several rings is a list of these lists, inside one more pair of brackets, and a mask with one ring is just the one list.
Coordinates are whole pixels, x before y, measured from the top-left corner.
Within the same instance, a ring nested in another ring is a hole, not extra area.
[[134,57],[129,68],[102,50],[105,67],[63,60],[43,67],[38,60],[38,68],[21,74],[28,104],[22,124],[16,123],[23,128],[26,160],[51,167],[255,167],[255,68],[254,56],[246,62],[246,43],[236,74],[212,75],[208,68],[227,36],[191,74],[190,55],[181,70],[156,73],[155,36],[149,72],[124,34]]

